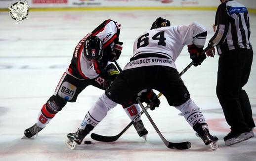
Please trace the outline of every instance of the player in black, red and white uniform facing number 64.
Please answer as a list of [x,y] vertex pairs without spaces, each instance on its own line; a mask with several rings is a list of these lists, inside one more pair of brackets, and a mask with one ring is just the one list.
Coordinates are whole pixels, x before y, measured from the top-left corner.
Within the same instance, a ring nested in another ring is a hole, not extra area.
[[[36,123],[24,131],[27,138],[41,131],[67,102],[76,102],[78,95],[86,86],[93,85],[106,90],[119,75],[116,66],[111,62],[118,59],[122,51],[123,42],[119,41],[120,28],[119,23],[105,20],[80,40],[75,47],[68,69],[59,80],[53,95],[43,104]],[[129,104],[123,107],[131,120],[140,112],[138,105]],[[90,115],[89,112],[88,114]],[[97,117],[90,120],[92,124],[98,123]],[[139,136],[146,136],[148,131],[141,118],[138,118],[133,125]],[[79,130],[85,129],[85,126],[86,124],[82,123]]]

